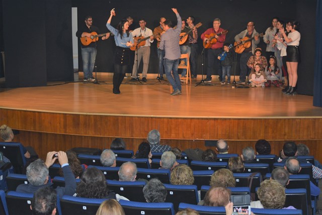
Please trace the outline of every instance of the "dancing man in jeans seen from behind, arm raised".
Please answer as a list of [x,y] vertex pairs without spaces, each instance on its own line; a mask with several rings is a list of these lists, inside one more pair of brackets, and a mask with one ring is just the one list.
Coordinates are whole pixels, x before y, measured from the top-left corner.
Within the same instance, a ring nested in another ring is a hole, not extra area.
[[[168,78],[168,81],[173,87],[173,92],[171,95],[180,95],[181,94],[181,83],[180,77],[178,74],[178,65],[179,59],[181,57],[180,46],[179,46],[179,35],[181,32],[182,20],[177,11],[173,8],[172,11],[177,16],[178,25],[176,29],[172,28],[171,20],[164,22],[164,30],[166,31],[160,41],[160,50],[165,50],[165,57],[163,65],[165,66],[165,72]],[[171,74],[172,71],[172,74]]]

